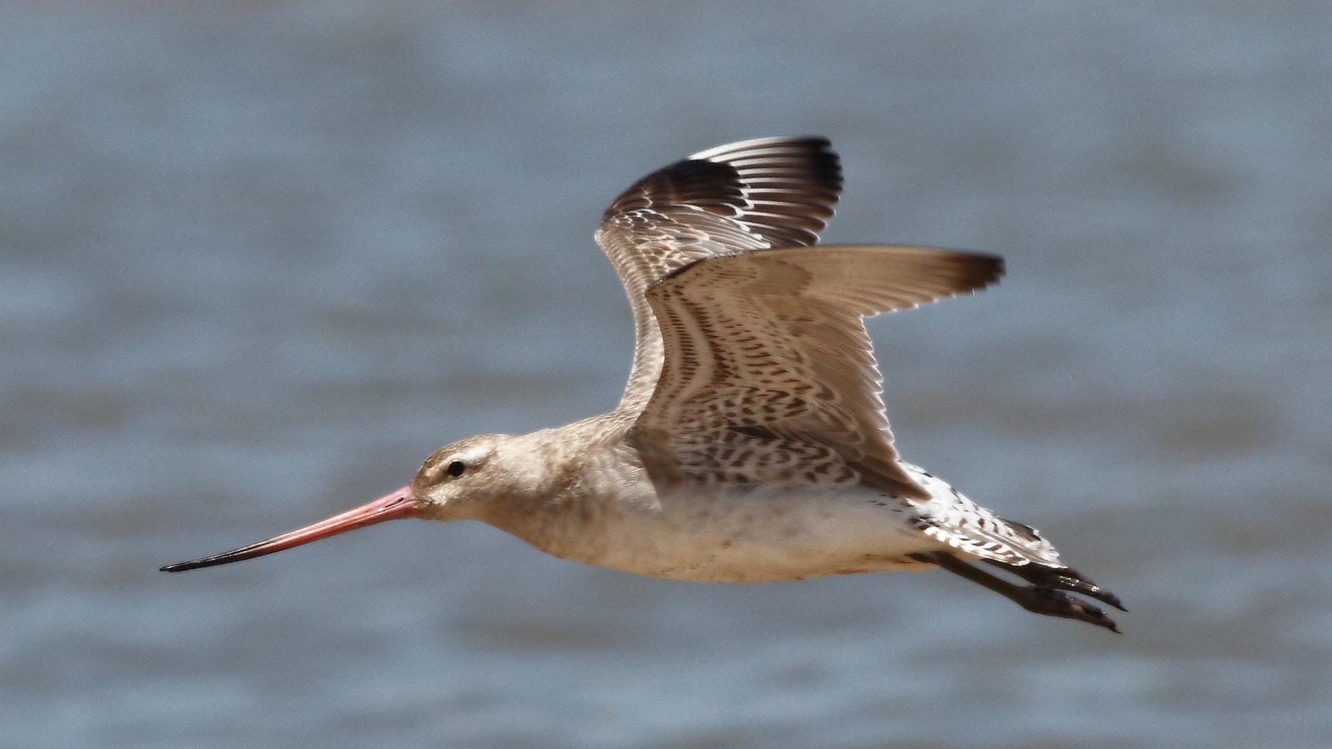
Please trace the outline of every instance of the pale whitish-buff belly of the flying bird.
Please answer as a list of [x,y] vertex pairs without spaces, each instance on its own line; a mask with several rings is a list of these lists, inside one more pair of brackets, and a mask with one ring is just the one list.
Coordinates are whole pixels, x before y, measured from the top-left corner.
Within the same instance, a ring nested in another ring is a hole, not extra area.
[[602,505],[595,541],[546,550],[671,580],[762,582],[920,566],[936,548],[900,501],[864,486],[643,492]]

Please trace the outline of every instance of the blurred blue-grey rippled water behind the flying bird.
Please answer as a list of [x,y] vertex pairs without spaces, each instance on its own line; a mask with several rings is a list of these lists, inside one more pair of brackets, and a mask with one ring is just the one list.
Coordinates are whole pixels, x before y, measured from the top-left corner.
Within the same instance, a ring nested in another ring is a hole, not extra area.
[[[0,746],[1332,746],[1320,3],[7,3]],[[400,522],[157,572],[614,405],[591,243],[822,133],[829,241],[998,252],[872,325],[908,460],[1123,596],[721,586]]]

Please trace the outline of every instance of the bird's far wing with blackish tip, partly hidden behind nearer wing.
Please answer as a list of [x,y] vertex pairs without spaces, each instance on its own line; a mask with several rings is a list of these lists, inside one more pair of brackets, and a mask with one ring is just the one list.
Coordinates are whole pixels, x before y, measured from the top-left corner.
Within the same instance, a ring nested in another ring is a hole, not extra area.
[[813,245],[840,191],[842,168],[826,139],[766,137],[695,153],[617,197],[597,244],[634,308],[634,367],[619,410],[642,409],[661,374],[647,287],[703,257]]

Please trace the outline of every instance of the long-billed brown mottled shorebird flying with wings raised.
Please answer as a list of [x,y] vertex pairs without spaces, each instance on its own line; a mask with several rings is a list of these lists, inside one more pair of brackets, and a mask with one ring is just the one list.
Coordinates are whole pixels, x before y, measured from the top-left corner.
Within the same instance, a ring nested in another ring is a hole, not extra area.
[[888,430],[863,319],[982,289],[1003,260],[817,245],[840,191],[821,137],[733,143],[653,172],[595,235],[637,329],[614,410],[458,440],[366,505],[163,570],[386,520],[480,520],[557,557],[671,580],[943,568],[1030,612],[1119,632],[1087,600],[1123,609],[1114,593],[1035,528],[902,460]]

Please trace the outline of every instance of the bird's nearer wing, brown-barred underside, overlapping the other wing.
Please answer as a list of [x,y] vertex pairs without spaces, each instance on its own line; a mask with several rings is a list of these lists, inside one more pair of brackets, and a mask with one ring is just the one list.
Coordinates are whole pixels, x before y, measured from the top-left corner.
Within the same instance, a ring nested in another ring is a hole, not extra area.
[[714,256],[646,293],[665,345],[631,430],[666,485],[863,482],[924,489],[898,464],[863,316],[983,288],[990,255],[875,245]]

